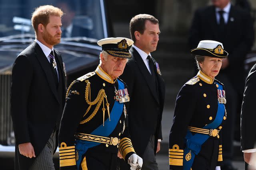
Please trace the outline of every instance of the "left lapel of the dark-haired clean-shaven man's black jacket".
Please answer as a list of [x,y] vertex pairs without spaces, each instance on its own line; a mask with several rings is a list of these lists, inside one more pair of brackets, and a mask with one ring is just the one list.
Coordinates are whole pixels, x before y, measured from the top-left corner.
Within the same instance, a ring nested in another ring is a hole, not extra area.
[[130,51],[132,52],[134,60],[137,63],[138,68],[140,69],[143,77],[145,78],[145,80],[146,80],[146,82],[148,84],[148,88],[150,89],[152,95],[154,96],[154,98],[156,99],[156,101],[159,104],[159,100],[158,100],[158,97],[157,97],[156,89],[155,89],[155,86],[152,86],[152,82],[151,82],[152,76],[151,76],[150,72],[148,71],[148,68],[146,67],[144,61],[142,60],[142,58],[140,57],[140,54],[138,53],[138,51],[136,51],[136,49],[134,49],[132,47],[130,49]]

